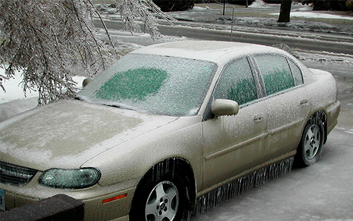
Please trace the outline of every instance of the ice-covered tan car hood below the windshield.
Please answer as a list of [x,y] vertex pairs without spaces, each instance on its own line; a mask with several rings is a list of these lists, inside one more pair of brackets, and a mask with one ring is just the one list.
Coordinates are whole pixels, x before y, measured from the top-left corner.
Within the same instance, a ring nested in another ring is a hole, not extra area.
[[79,168],[99,153],[176,119],[77,100],[58,101],[1,123],[0,158],[37,170]]

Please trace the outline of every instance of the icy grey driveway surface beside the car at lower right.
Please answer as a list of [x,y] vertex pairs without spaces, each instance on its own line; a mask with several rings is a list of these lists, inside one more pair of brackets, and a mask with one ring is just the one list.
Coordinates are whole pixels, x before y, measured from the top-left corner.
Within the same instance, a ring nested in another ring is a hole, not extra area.
[[191,221],[352,221],[352,140],[353,134],[333,130],[316,164],[294,168]]

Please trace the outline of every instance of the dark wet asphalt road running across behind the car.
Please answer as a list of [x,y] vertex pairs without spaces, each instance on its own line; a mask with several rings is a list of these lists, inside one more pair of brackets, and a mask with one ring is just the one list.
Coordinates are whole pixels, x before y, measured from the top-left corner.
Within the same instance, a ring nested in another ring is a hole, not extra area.
[[[122,30],[124,24],[121,21],[105,21],[108,29]],[[102,27],[102,24],[99,21],[95,21],[96,27]],[[192,23],[181,22],[178,23],[176,27],[171,25],[160,25],[158,30],[161,34],[168,36],[176,37],[188,37],[193,39],[203,39],[203,40],[215,40],[215,41],[230,41],[231,33],[229,27],[220,27],[219,30],[214,28],[217,25],[208,25],[201,26],[200,23],[197,25],[191,26]],[[196,26],[196,27],[195,27]],[[229,26],[229,25],[228,25]],[[211,29],[212,28],[212,29]],[[228,30],[227,30],[228,29]],[[328,51],[332,53],[345,53],[353,55],[352,44],[347,44],[353,42],[353,39],[345,37],[340,41],[339,37],[333,38],[331,36],[325,36],[325,34],[312,33],[308,37],[308,33],[303,33],[293,35],[291,33],[278,31],[266,32],[263,30],[259,31],[255,27],[242,30],[237,30],[234,27],[232,32],[232,41],[233,42],[244,42],[251,44],[263,44],[272,46],[273,44],[287,44],[293,49],[301,49],[305,51]]]

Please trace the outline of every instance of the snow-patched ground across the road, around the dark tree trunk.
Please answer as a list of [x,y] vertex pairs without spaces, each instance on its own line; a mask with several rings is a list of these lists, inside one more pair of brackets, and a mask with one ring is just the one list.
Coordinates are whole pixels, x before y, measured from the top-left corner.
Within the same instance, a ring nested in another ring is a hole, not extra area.
[[[234,9],[234,17],[232,10]],[[280,30],[298,30],[315,32],[334,32],[352,35],[352,13],[313,11],[312,6],[294,4],[290,23],[277,23],[279,4],[265,4],[255,1],[249,8],[226,4],[225,15],[222,15],[222,4],[197,4],[191,11],[171,12],[178,20],[230,24],[240,27],[266,27]]]

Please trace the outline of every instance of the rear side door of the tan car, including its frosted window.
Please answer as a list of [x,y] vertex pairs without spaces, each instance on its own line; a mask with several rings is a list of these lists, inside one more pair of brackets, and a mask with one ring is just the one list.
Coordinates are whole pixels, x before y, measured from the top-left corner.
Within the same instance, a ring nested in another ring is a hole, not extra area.
[[265,161],[297,149],[309,113],[309,96],[299,66],[275,53],[253,56],[265,88],[268,148]]

